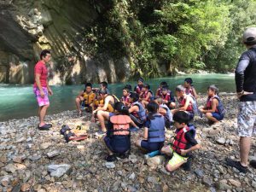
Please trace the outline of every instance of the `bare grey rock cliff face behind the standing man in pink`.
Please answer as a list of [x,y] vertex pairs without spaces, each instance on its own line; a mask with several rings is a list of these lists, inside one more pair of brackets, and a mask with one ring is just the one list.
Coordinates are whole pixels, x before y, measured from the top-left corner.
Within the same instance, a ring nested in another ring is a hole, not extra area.
[[84,0],[0,0],[0,83],[32,83],[42,49],[50,49],[53,57],[50,84],[128,79],[126,58],[99,60],[87,54],[84,33],[98,13]]

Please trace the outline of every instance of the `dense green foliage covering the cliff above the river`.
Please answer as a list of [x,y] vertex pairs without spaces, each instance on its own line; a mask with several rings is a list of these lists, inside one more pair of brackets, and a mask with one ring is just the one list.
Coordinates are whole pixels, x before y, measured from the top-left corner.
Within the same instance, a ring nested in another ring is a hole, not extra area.
[[126,55],[133,73],[172,74],[174,68],[226,72],[255,24],[254,0],[91,0],[99,19],[85,34],[90,53]]

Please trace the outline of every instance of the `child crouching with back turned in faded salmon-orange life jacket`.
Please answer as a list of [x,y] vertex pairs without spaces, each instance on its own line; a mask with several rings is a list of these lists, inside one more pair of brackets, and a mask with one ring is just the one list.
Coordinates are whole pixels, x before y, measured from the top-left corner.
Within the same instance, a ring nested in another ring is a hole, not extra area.
[[108,120],[107,136],[104,143],[108,150],[107,161],[116,160],[127,156],[131,148],[130,125],[136,126],[129,116],[128,108],[123,102],[114,103],[114,114]]

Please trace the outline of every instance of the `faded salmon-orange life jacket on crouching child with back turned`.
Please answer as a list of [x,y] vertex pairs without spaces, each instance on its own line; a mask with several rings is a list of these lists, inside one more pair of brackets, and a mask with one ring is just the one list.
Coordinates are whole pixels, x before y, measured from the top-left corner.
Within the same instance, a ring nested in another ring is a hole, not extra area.
[[113,115],[109,120],[113,123],[113,135],[127,136],[130,134],[131,118],[128,115]]

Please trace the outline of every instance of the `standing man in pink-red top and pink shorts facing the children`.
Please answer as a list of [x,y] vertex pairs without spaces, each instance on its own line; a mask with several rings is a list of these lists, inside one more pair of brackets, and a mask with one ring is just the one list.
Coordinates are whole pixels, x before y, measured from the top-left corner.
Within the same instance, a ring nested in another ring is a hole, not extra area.
[[44,49],[40,54],[40,61],[36,64],[34,68],[35,83],[33,85],[33,91],[38,101],[38,115],[39,115],[39,125],[38,129],[42,131],[48,131],[52,126],[44,122],[44,117],[49,108],[49,97],[53,94],[52,90],[49,88],[48,84],[48,69],[46,63],[50,61],[49,50]]

